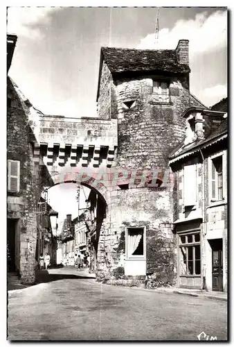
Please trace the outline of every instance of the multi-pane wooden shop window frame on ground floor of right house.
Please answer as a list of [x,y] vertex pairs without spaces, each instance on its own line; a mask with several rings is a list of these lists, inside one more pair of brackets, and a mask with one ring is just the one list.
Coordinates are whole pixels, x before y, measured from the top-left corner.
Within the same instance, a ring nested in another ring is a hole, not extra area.
[[[188,242],[188,236],[192,235],[192,242]],[[199,242],[195,242],[195,235],[199,235]],[[181,243],[181,237],[186,237],[186,242]],[[178,257],[178,269],[179,269],[179,277],[201,277],[201,271],[202,271],[202,259],[201,259],[201,230],[192,230],[192,231],[185,231],[185,232],[180,232],[177,234],[178,237],[178,248],[179,248],[179,257]],[[195,273],[196,271],[196,257],[195,257],[195,246],[200,247],[200,257],[199,257],[199,262],[200,262],[200,273],[197,274]],[[186,273],[181,273],[181,248],[186,248]],[[193,268],[193,273],[188,273],[188,248],[192,248],[192,268]]]

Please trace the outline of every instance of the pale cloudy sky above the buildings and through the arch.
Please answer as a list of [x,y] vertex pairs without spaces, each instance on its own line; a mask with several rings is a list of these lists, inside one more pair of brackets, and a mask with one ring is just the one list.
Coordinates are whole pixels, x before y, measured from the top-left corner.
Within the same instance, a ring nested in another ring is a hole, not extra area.
[[[9,75],[44,114],[95,117],[100,47],[155,49],[156,12],[156,8],[11,7],[8,33],[17,34],[18,41]],[[157,48],[175,49],[180,39],[190,40],[190,91],[207,106],[226,96],[226,37],[225,9],[159,10]],[[65,186],[51,188],[55,201],[51,205],[63,214],[71,210],[65,195],[75,200],[75,189]],[[64,194],[60,201],[57,192]]]

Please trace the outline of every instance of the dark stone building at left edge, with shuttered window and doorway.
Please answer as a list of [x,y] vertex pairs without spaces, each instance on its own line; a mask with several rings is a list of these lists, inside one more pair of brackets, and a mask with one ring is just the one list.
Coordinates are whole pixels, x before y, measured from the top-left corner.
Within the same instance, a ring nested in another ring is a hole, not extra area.
[[[7,37],[8,70],[16,35]],[[35,282],[37,203],[44,186],[50,185],[48,170],[37,149],[30,128],[30,113],[36,112],[19,87],[7,77],[7,160],[8,160],[8,271],[17,272],[21,282]]]

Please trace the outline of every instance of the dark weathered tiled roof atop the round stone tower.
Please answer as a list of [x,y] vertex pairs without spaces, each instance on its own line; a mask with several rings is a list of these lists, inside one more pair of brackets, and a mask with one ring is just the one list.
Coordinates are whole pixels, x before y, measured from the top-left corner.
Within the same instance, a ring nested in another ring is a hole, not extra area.
[[101,52],[111,73],[152,70],[175,73],[190,72],[188,65],[179,63],[175,49],[153,50],[102,47]]

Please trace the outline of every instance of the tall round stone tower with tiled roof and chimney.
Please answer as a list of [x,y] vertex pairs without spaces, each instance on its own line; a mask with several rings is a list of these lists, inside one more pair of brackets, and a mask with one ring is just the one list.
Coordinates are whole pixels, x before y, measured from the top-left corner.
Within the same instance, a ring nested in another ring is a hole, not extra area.
[[[174,50],[101,48],[98,117],[118,121],[115,164],[124,171],[111,191],[103,249],[111,269],[123,266],[125,276],[154,273],[159,282],[174,281],[173,184],[165,183],[168,155],[185,133],[181,113],[198,102],[189,73],[188,40]],[[131,180],[133,171],[156,169],[160,187],[150,187],[152,176]]]

